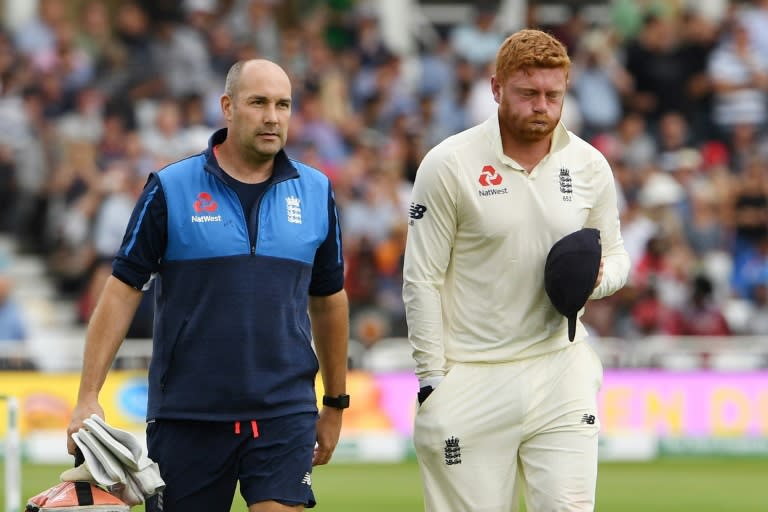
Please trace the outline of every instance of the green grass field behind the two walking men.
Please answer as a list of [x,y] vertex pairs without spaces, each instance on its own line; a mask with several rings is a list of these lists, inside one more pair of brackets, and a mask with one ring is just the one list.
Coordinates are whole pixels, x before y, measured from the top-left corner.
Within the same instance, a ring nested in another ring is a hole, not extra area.
[[[54,485],[64,469],[65,466],[25,464],[23,501]],[[419,474],[414,462],[330,464],[316,468],[312,480],[318,499],[315,510],[422,510]],[[2,487],[0,504],[5,504]],[[141,512],[143,507],[133,510]],[[768,459],[670,458],[651,463],[604,463],[598,478],[597,510],[765,512],[768,511]],[[232,511],[247,511],[239,496]]]

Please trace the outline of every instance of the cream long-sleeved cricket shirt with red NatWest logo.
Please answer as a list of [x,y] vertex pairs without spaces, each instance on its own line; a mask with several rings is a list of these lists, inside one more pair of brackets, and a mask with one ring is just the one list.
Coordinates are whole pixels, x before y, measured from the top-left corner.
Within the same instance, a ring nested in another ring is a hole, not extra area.
[[[453,362],[568,346],[567,320],[544,290],[549,249],[568,233],[600,230],[604,274],[591,298],[629,273],[608,162],[562,124],[530,174],[503,154],[496,114],[447,138],[418,169],[409,224],[403,299],[420,379]],[[576,341],[585,334],[578,322]]]

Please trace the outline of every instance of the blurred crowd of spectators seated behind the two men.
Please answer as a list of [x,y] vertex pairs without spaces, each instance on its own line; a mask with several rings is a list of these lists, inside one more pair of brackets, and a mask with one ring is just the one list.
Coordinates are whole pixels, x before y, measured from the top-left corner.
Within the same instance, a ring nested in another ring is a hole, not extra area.
[[[768,1],[603,3],[605,23],[573,9],[547,24],[536,2],[520,23],[567,45],[563,120],[619,189],[630,283],[584,321],[623,338],[768,334]],[[147,175],[206,146],[226,71],[263,56],[293,80],[289,155],[335,186],[352,337],[403,336],[419,162],[496,107],[509,24],[497,2],[470,4],[403,55],[375,2],[39,0],[0,30],[0,232],[87,322]],[[23,337],[12,298],[3,281],[0,339]],[[151,335],[151,306],[150,293],[130,336]]]

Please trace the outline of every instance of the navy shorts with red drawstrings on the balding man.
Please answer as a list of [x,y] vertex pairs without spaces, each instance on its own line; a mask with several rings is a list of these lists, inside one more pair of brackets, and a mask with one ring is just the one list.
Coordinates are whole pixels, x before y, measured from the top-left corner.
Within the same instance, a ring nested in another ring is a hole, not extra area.
[[147,512],[228,512],[238,482],[249,505],[274,500],[314,507],[316,423],[315,413],[259,421],[150,422],[149,456],[166,487],[147,500]]

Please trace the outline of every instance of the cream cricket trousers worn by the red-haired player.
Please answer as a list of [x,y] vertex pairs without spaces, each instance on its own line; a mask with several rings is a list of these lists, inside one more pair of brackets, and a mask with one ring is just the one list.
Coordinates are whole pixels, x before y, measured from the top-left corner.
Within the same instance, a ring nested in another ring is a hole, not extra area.
[[416,412],[425,510],[512,512],[518,487],[529,512],[594,510],[602,377],[586,342],[454,365]]

